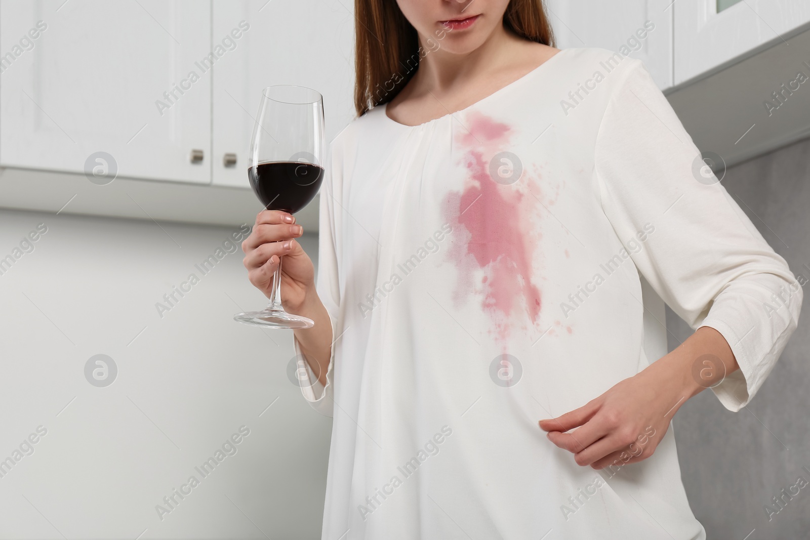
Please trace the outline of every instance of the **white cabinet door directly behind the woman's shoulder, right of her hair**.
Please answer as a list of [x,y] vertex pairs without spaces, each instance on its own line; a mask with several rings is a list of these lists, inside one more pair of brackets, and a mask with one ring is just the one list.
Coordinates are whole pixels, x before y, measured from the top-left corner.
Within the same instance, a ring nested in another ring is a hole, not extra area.
[[546,10],[558,48],[626,47],[659,88],[672,86],[671,0],[546,0]]

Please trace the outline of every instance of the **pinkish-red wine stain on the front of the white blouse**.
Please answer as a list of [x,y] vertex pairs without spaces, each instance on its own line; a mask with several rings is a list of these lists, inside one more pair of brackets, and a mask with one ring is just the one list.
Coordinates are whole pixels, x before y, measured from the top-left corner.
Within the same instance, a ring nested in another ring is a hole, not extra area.
[[444,201],[445,218],[467,234],[456,236],[462,241],[450,249],[450,257],[460,274],[457,293],[461,296],[474,291],[471,274],[484,271],[482,308],[492,318],[498,337],[506,338],[514,313],[525,308],[531,321],[537,322],[541,306],[539,288],[531,283],[532,243],[524,234],[527,223],[520,211],[524,194],[514,184],[501,185],[489,175],[492,155],[509,150],[509,126],[471,113],[467,129],[458,137],[468,148],[464,189],[448,193]]

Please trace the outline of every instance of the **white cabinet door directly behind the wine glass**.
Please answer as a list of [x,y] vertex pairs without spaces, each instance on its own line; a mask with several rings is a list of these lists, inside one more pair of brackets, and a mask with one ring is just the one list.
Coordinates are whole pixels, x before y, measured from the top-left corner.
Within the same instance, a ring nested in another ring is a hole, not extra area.
[[[214,183],[248,187],[247,152],[263,88],[297,84],[321,92],[327,143],[352,121],[352,2],[213,2],[214,46],[228,49],[214,66]],[[226,166],[225,154],[236,154],[236,164]]]

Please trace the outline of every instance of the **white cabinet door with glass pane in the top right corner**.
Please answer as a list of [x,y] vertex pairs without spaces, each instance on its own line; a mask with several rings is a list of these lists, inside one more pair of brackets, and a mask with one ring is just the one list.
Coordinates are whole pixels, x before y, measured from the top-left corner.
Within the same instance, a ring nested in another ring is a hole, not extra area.
[[678,0],[673,8],[676,84],[810,21],[808,0]]

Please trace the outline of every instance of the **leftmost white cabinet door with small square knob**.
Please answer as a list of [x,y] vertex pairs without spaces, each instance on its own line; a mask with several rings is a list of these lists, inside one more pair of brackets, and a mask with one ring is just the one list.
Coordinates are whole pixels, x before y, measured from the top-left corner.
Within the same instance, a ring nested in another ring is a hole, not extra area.
[[210,52],[210,2],[3,0],[0,164],[210,183]]

